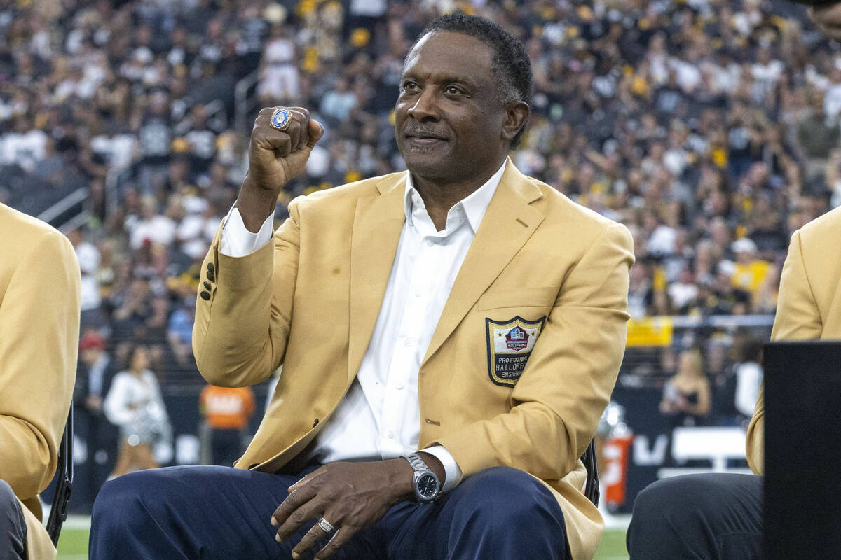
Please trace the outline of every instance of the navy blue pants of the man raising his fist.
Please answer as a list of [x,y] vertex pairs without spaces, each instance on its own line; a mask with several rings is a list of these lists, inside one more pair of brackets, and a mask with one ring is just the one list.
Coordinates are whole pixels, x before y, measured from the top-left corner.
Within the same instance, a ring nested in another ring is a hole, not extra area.
[[[282,544],[272,512],[300,476],[225,467],[170,467],[103,485],[90,560],[286,560],[313,522]],[[310,551],[310,557],[317,550]],[[515,468],[489,468],[431,504],[395,505],[336,560],[565,560],[563,512]]]

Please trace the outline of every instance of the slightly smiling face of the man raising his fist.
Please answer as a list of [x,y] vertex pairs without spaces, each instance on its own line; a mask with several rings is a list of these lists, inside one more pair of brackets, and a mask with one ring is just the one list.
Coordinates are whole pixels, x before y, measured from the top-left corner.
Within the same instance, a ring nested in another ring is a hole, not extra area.
[[501,99],[491,55],[479,39],[434,31],[406,57],[395,133],[406,167],[421,180],[487,180],[505,160],[527,106],[514,110]]

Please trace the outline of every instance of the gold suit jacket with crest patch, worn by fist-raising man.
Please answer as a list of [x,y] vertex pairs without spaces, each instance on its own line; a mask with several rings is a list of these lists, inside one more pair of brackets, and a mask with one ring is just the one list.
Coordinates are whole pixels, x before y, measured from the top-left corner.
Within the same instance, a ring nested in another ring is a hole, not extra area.
[[[246,257],[220,254],[217,233],[202,267],[209,290],[200,286],[197,300],[198,369],[214,385],[241,386],[283,364],[237,467],[283,467],[351,385],[405,222],[406,176],[295,199],[274,243]],[[593,557],[603,528],[581,493],[579,457],[616,383],[632,262],[624,226],[509,160],[418,374],[420,447],[443,445],[465,477],[505,465],[542,480],[576,558]],[[516,326],[538,338],[519,379],[505,365],[519,351],[492,340]]]

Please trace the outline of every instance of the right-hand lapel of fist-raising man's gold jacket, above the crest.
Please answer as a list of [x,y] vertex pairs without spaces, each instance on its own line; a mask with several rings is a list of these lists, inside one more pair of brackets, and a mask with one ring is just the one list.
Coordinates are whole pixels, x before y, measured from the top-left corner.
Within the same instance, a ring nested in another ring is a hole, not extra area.
[[529,203],[541,196],[537,186],[522,175],[509,159],[500,186],[452,285],[423,364],[441,348],[479,296],[532,237],[543,221],[543,214]]

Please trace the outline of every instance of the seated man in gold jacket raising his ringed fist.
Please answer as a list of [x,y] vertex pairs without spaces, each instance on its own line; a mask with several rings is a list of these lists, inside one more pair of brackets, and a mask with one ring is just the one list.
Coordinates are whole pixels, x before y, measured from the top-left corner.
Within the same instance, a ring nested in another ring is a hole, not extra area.
[[510,34],[437,19],[395,109],[410,172],[296,199],[267,244],[323,129],[262,111],[193,351],[214,385],[283,364],[271,406],[237,469],[106,484],[93,560],[593,557],[579,457],[624,351],[632,241],[507,159],[530,92]]

